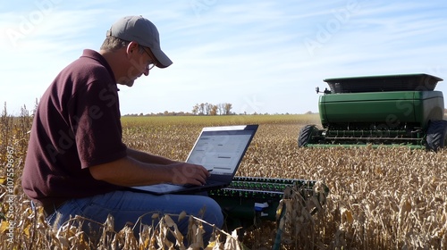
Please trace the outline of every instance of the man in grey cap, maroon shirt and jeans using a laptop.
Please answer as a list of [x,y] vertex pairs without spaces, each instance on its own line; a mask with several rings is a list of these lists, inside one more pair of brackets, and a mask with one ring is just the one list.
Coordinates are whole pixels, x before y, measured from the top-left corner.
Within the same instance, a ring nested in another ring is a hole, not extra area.
[[[203,166],[122,143],[116,84],[131,87],[154,66],[171,63],[160,48],[156,26],[141,16],[129,16],[107,31],[99,53],[84,50],[57,75],[38,104],[22,176],[24,192],[44,207],[47,221],[60,227],[80,215],[102,223],[111,214],[119,230],[142,215],[150,225],[148,212],[184,211],[222,226],[220,206],[207,196],[153,196],[126,188],[162,182],[201,185],[209,175]],[[185,234],[188,220],[178,226]],[[212,229],[205,229],[207,240]]]

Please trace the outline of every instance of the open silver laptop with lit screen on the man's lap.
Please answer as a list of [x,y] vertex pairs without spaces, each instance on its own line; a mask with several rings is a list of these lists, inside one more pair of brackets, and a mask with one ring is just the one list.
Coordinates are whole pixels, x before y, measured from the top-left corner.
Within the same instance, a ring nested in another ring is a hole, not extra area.
[[155,195],[193,194],[230,185],[258,125],[203,128],[186,162],[204,166],[211,176],[203,186],[171,183],[131,187]]

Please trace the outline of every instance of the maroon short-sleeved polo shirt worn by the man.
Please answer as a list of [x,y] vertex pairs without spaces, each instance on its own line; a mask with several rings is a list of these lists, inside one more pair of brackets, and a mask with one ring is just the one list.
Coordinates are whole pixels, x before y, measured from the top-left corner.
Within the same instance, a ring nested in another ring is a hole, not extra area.
[[118,88],[105,58],[84,50],[38,103],[21,184],[44,205],[120,187],[93,179],[89,167],[126,156]]

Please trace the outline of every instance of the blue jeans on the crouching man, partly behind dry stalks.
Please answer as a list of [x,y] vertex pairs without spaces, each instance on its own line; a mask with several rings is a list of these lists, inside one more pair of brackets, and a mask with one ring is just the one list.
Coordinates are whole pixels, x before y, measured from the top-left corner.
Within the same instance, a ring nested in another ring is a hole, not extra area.
[[[210,224],[214,224],[219,229],[222,228],[223,213],[221,207],[215,200],[208,196],[156,196],[131,191],[114,191],[104,195],[69,200],[58,207],[53,214],[48,214],[46,221],[53,225],[56,217],[58,217],[57,213],[60,213],[60,218],[57,220],[57,227],[59,228],[65,221],[70,219],[70,216],[74,218],[75,215],[80,215],[90,220],[104,223],[107,215],[111,214],[114,216],[114,230],[119,231],[128,222],[131,224],[141,222],[149,226],[152,225],[152,214],[154,213],[159,213],[160,217],[163,214],[175,214],[172,215],[173,221],[177,223],[177,227],[186,239],[188,233],[188,218],[181,221],[178,221],[176,218],[176,215],[183,211],[188,215],[194,215]],[[200,214],[200,211],[205,212]],[[139,221],[139,217],[142,215],[144,216]],[[85,221],[85,229],[89,229],[87,224],[89,224],[88,221]],[[206,231],[203,238],[205,246],[207,246],[213,233],[213,228],[206,224],[203,226]],[[134,234],[138,236],[139,225],[135,227]]]

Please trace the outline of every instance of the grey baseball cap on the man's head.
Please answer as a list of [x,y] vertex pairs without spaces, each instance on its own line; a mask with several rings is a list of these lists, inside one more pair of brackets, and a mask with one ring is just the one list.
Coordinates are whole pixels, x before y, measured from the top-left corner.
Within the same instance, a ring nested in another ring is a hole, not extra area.
[[160,47],[160,36],[156,26],[142,16],[126,16],[116,21],[107,31],[107,36],[124,41],[135,41],[146,46],[156,56],[156,67],[166,68],[173,64]]

